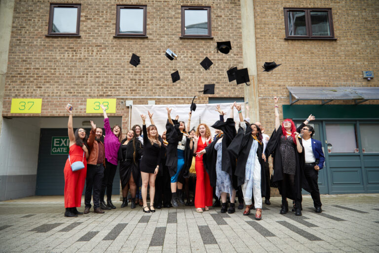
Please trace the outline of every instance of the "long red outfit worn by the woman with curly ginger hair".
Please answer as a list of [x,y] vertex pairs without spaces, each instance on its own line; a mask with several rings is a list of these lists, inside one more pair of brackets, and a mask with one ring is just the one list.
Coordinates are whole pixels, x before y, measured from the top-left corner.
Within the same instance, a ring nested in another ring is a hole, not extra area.
[[[196,153],[203,150],[207,146],[203,143],[201,137],[197,141]],[[196,170],[196,194],[195,194],[195,208],[211,207],[213,201],[213,191],[209,180],[209,175],[204,169],[203,155],[195,158]]]

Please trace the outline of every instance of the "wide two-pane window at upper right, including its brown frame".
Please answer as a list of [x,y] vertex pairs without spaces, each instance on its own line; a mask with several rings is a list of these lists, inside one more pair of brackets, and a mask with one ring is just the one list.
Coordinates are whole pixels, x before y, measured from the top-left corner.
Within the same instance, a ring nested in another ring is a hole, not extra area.
[[286,39],[335,39],[332,9],[284,8]]

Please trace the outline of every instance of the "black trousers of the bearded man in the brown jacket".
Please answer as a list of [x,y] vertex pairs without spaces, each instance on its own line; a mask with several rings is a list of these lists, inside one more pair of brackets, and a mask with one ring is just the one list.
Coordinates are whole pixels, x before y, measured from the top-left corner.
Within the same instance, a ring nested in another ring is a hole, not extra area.
[[85,178],[85,206],[91,208],[91,195],[93,189],[93,208],[100,207],[100,190],[104,178],[104,166],[87,165],[87,176]]

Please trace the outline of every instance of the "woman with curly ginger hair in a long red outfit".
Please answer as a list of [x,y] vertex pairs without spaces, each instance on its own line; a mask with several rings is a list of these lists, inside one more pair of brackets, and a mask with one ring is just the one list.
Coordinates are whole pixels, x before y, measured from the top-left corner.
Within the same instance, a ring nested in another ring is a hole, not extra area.
[[[211,131],[205,124],[200,124],[196,129],[196,135],[193,138],[194,141],[194,153],[199,153],[211,142]],[[197,212],[203,212],[209,210],[212,206],[213,191],[209,180],[209,175],[204,169],[203,155],[197,155],[195,158],[195,170],[196,170],[196,195],[195,195],[195,208]]]

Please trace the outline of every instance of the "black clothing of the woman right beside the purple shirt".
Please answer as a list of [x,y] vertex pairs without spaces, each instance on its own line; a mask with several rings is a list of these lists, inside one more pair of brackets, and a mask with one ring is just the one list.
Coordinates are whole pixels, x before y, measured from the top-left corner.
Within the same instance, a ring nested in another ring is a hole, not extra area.
[[[121,141],[120,148],[118,149],[118,160],[120,161],[120,180],[121,187],[124,188],[128,183],[130,176],[133,175],[134,182],[138,184],[140,180],[141,171],[139,168],[139,161],[143,153],[143,145],[138,139],[132,139],[126,145],[122,145],[127,139]],[[133,142],[136,147],[136,157],[133,159],[134,147]],[[122,151],[122,146],[126,146],[126,157],[125,152]]]

